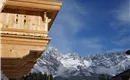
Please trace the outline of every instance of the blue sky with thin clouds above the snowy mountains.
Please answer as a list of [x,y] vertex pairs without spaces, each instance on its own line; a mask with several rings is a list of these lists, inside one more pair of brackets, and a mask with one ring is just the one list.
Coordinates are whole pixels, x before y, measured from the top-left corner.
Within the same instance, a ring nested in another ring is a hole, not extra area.
[[130,0],[62,0],[49,46],[81,56],[130,49]]

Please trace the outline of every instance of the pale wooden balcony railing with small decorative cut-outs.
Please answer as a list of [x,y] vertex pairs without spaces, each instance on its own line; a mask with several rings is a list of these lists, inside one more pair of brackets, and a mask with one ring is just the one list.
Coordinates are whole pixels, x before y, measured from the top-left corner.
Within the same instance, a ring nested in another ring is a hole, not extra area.
[[48,24],[51,20],[48,19],[46,12],[44,15],[40,12],[18,11],[19,14],[15,14],[13,10],[6,12],[0,13],[0,33],[47,37]]

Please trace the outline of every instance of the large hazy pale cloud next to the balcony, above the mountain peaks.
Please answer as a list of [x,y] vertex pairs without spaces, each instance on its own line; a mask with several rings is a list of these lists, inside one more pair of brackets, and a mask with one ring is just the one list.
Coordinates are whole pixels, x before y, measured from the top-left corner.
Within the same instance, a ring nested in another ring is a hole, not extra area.
[[84,27],[85,29],[89,28],[86,27],[86,22],[83,21],[87,13],[87,9],[82,7],[80,3],[74,0],[64,0],[63,7],[49,34],[52,37],[50,46],[58,48],[63,53],[101,52],[103,45],[100,44],[98,39],[84,39],[77,36]]

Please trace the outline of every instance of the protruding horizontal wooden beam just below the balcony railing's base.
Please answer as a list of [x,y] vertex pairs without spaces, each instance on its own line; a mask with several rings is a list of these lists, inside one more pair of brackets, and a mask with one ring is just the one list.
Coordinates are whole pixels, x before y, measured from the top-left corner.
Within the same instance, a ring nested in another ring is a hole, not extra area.
[[46,40],[35,40],[35,39],[20,39],[20,38],[8,38],[0,36],[0,43],[2,44],[15,44],[15,45],[30,45],[30,46],[47,46],[50,39]]

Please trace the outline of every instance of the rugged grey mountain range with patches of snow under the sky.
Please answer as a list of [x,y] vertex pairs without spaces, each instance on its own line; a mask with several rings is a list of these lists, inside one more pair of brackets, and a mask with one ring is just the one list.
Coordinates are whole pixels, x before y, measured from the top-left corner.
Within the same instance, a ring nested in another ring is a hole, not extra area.
[[130,56],[123,52],[81,57],[75,53],[62,54],[57,49],[48,47],[34,65],[32,72],[48,72],[56,77],[79,76],[83,80],[83,77],[97,77],[102,73],[116,75],[128,68]]

